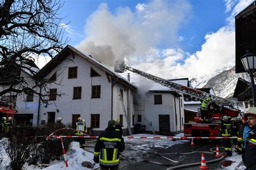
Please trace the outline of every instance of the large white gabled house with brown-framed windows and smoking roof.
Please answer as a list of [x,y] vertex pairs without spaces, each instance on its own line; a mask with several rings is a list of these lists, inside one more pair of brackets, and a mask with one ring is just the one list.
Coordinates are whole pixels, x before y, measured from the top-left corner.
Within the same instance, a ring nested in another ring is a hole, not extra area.
[[41,105],[37,124],[55,122],[57,117],[62,117],[63,123],[74,126],[77,118],[83,117],[86,126],[99,133],[107,127],[107,121],[120,119],[124,131],[127,130],[118,91],[131,121],[136,87],[91,56],[68,45],[39,70],[37,78],[52,80],[48,89],[52,104]]

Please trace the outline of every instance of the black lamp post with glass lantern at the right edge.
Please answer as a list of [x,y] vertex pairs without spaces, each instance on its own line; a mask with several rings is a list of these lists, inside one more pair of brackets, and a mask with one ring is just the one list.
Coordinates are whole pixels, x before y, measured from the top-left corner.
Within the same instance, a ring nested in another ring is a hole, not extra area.
[[246,72],[251,77],[252,82],[252,98],[253,98],[253,105],[256,107],[256,89],[254,84],[254,73],[256,72],[256,54],[249,53],[246,51],[246,54],[241,57],[242,65],[244,65]]

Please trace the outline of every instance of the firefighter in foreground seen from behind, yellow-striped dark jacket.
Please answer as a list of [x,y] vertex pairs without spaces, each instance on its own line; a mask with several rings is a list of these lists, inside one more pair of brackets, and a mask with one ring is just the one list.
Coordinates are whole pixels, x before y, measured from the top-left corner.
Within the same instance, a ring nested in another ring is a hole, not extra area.
[[119,154],[125,148],[124,139],[114,128],[115,124],[114,120],[110,120],[107,123],[107,128],[99,134],[95,145],[93,161],[96,164],[99,163],[101,169],[118,169]]

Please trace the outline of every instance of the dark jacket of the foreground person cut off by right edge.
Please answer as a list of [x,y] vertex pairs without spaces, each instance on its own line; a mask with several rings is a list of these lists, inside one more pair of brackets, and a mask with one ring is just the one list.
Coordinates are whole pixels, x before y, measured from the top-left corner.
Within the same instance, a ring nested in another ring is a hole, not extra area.
[[246,138],[245,165],[246,169],[256,169],[256,129]]

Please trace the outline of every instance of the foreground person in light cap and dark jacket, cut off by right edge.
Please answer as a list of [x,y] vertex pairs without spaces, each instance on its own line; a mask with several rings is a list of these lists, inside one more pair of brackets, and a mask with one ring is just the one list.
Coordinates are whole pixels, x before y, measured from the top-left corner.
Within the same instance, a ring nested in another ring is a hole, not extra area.
[[256,108],[250,108],[244,116],[251,129],[245,142],[245,166],[246,169],[256,169]]

